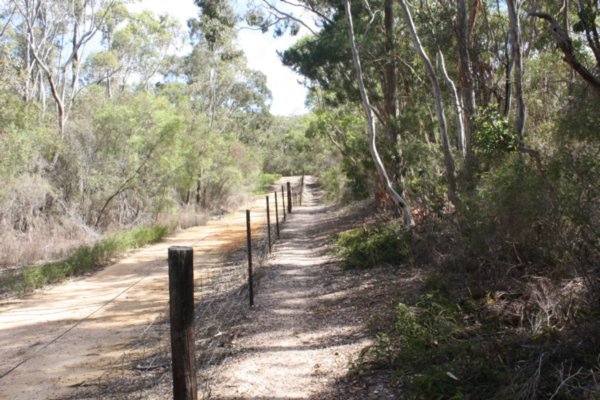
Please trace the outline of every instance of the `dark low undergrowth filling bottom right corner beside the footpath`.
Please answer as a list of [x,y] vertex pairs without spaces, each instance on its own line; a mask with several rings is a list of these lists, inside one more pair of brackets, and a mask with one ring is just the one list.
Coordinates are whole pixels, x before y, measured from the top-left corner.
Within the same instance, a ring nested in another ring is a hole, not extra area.
[[415,399],[598,398],[598,332],[583,329],[589,315],[581,331],[528,334],[489,313],[492,297],[455,298],[440,282],[398,304],[392,328],[362,351],[354,373],[392,369]]

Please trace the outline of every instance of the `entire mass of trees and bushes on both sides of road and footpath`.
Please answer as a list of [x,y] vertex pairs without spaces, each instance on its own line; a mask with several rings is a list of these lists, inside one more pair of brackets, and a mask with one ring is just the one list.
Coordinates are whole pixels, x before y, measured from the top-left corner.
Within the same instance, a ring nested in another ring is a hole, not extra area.
[[[343,268],[429,274],[374,318],[387,322],[358,376],[394,371],[418,399],[600,396],[597,1],[301,1],[302,15],[275,2],[242,16],[197,0],[187,32],[125,3],[0,5],[0,268],[66,257],[13,287],[101,265],[114,232],[314,174],[328,201],[370,198],[382,216],[332,239]],[[235,46],[242,21],[301,32],[281,59],[308,115],[269,114],[267,78]],[[103,48],[84,62],[86,32]],[[189,54],[169,55],[183,40]]]

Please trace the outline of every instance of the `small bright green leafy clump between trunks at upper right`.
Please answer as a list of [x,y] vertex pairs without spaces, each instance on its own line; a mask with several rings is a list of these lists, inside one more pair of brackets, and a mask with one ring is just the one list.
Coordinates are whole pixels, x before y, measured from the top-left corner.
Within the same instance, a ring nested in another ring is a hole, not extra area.
[[480,108],[475,118],[475,146],[485,156],[511,153],[518,149],[519,137],[495,105]]

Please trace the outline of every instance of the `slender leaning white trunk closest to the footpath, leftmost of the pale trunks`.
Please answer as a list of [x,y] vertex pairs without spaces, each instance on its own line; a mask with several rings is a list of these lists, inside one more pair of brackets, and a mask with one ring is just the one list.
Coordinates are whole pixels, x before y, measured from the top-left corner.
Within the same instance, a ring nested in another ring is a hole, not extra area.
[[356,46],[356,37],[354,35],[354,24],[352,22],[350,0],[344,1],[344,9],[346,11],[346,20],[348,22],[348,38],[350,39],[350,47],[352,49],[352,61],[354,62],[354,68],[356,70],[356,75],[358,78],[358,87],[360,89],[362,105],[365,112],[365,117],[367,119],[367,133],[369,135],[369,149],[371,151],[371,156],[373,158],[373,161],[375,162],[377,171],[381,176],[381,179],[385,185],[388,194],[394,200],[394,203],[402,212],[404,223],[407,226],[414,226],[415,221],[412,217],[410,207],[408,206],[406,200],[394,190],[392,182],[390,181],[390,178],[385,170],[385,166],[383,165],[381,157],[379,156],[379,152],[377,151],[377,144],[375,140],[377,137],[377,127],[375,125],[375,116],[373,115],[373,109],[371,108],[371,103],[369,102],[369,97],[365,89],[365,82],[363,79],[363,71],[360,63],[360,56],[358,54],[358,49]]

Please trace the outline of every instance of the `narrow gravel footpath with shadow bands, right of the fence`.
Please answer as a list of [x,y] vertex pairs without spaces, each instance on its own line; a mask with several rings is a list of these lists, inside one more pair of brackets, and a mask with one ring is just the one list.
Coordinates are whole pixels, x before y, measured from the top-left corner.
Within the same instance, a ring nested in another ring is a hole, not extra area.
[[211,398],[332,398],[327,388],[370,343],[364,321],[345,310],[360,284],[344,286],[327,252],[339,215],[321,205],[312,178],[306,186],[303,207],[288,216],[264,268],[237,355],[215,374]]

